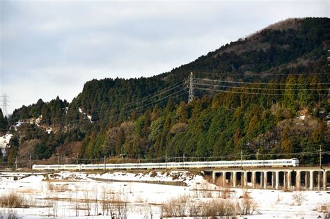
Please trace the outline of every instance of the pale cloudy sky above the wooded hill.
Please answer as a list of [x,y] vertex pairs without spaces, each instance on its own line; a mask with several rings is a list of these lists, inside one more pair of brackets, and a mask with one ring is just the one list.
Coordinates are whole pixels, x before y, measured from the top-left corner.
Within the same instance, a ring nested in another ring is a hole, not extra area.
[[71,102],[91,79],[168,72],[283,19],[329,17],[329,2],[0,0],[0,96],[10,114]]

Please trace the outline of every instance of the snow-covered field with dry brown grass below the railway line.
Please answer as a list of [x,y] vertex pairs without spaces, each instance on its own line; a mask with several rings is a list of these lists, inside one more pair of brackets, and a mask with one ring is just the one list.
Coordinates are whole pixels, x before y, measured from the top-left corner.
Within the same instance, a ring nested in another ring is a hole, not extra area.
[[[166,185],[173,181],[185,186]],[[191,172],[0,172],[0,197],[0,218],[198,218],[214,206],[242,210],[246,201],[253,214],[237,218],[323,218],[322,206],[330,209],[329,191],[222,188]]]

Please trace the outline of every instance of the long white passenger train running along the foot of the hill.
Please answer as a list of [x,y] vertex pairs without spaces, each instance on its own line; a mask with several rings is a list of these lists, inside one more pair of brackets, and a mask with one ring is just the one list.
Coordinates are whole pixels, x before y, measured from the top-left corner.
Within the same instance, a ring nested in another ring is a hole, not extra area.
[[189,168],[258,168],[297,167],[298,159],[248,160],[248,161],[200,161],[169,163],[105,163],[33,165],[33,170],[143,170],[143,169],[189,169]]

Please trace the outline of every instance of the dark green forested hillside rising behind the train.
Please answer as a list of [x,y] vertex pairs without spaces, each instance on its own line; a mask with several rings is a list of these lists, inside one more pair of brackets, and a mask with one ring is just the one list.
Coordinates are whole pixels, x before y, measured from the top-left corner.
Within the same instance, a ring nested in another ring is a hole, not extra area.
[[2,159],[240,159],[242,152],[317,163],[320,147],[330,151],[329,40],[328,18],[288,19],[171,72],[88,81],[71,103],[40,99],[8,124],[0,112],[1,131],[14,134]]

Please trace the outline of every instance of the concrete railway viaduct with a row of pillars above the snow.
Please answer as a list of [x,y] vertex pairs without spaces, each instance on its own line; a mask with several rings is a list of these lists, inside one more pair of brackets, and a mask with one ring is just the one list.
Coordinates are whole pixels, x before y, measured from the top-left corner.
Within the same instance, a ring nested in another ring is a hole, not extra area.
[[244,188],[327,190],[330,167],[205,169],[221,186]]

